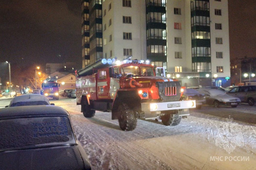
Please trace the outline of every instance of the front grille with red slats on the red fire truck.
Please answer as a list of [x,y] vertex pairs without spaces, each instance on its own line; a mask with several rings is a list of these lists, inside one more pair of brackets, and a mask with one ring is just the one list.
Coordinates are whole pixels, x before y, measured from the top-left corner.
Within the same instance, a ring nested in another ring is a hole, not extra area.
[[159,96],[163,102],[179,101],[181,85],[178,81],[157,82]]

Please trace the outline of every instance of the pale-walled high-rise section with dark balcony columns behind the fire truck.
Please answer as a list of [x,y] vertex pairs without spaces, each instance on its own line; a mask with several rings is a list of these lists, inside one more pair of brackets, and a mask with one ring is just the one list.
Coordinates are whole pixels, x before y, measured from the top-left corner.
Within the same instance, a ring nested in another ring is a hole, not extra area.
[[230,84],[228,0],[101,4],[103,58],[149,59],[185,86]]

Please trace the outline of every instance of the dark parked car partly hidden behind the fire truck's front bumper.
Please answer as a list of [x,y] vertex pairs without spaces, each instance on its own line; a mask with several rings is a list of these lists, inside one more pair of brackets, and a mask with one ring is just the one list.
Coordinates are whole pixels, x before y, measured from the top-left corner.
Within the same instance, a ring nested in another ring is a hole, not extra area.
[[194,89],[184,89],[183,96],[186,100],[196,100],[196,108],[201,109],[202,104],[206,102],[206,97],[204,94],[200,94]]

